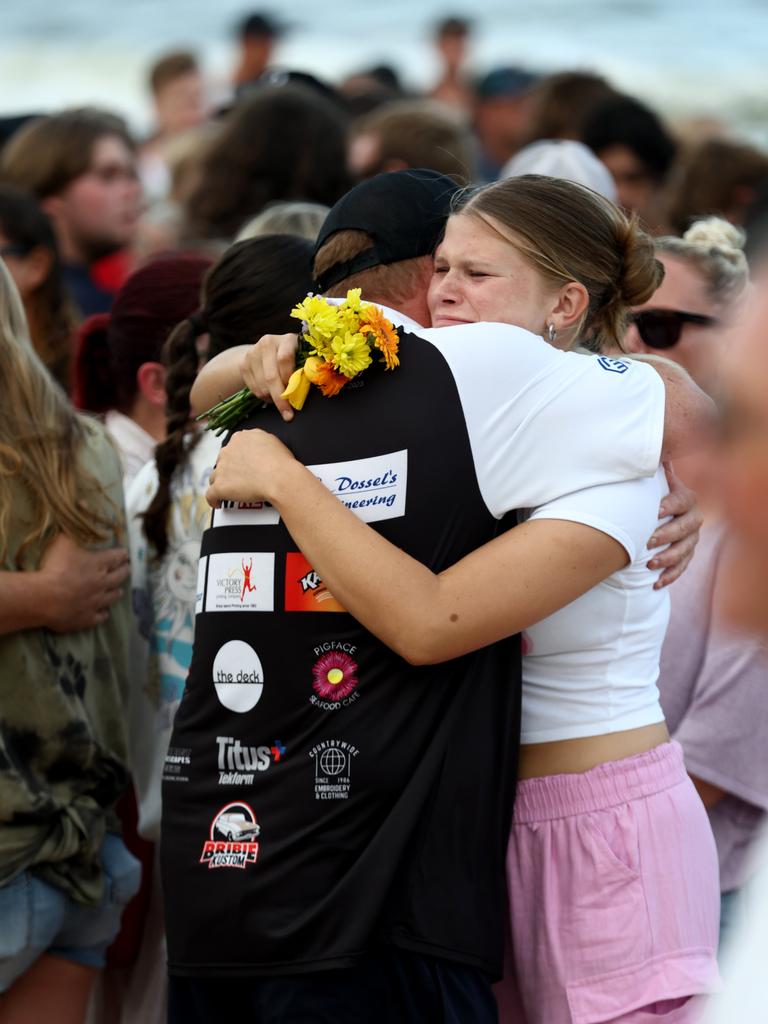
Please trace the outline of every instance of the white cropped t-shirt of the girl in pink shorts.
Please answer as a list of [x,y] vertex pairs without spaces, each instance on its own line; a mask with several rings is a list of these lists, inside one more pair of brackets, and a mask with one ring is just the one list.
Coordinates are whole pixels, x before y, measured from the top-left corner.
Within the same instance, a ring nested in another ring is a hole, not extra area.
[[664,721],[656,681],[670,613],[647,549],[668,493],[652,477],[589,487],[536,509],[530,519],[581,522],[626,549],[625,568],[526,630],[523,743],[575,739]]

